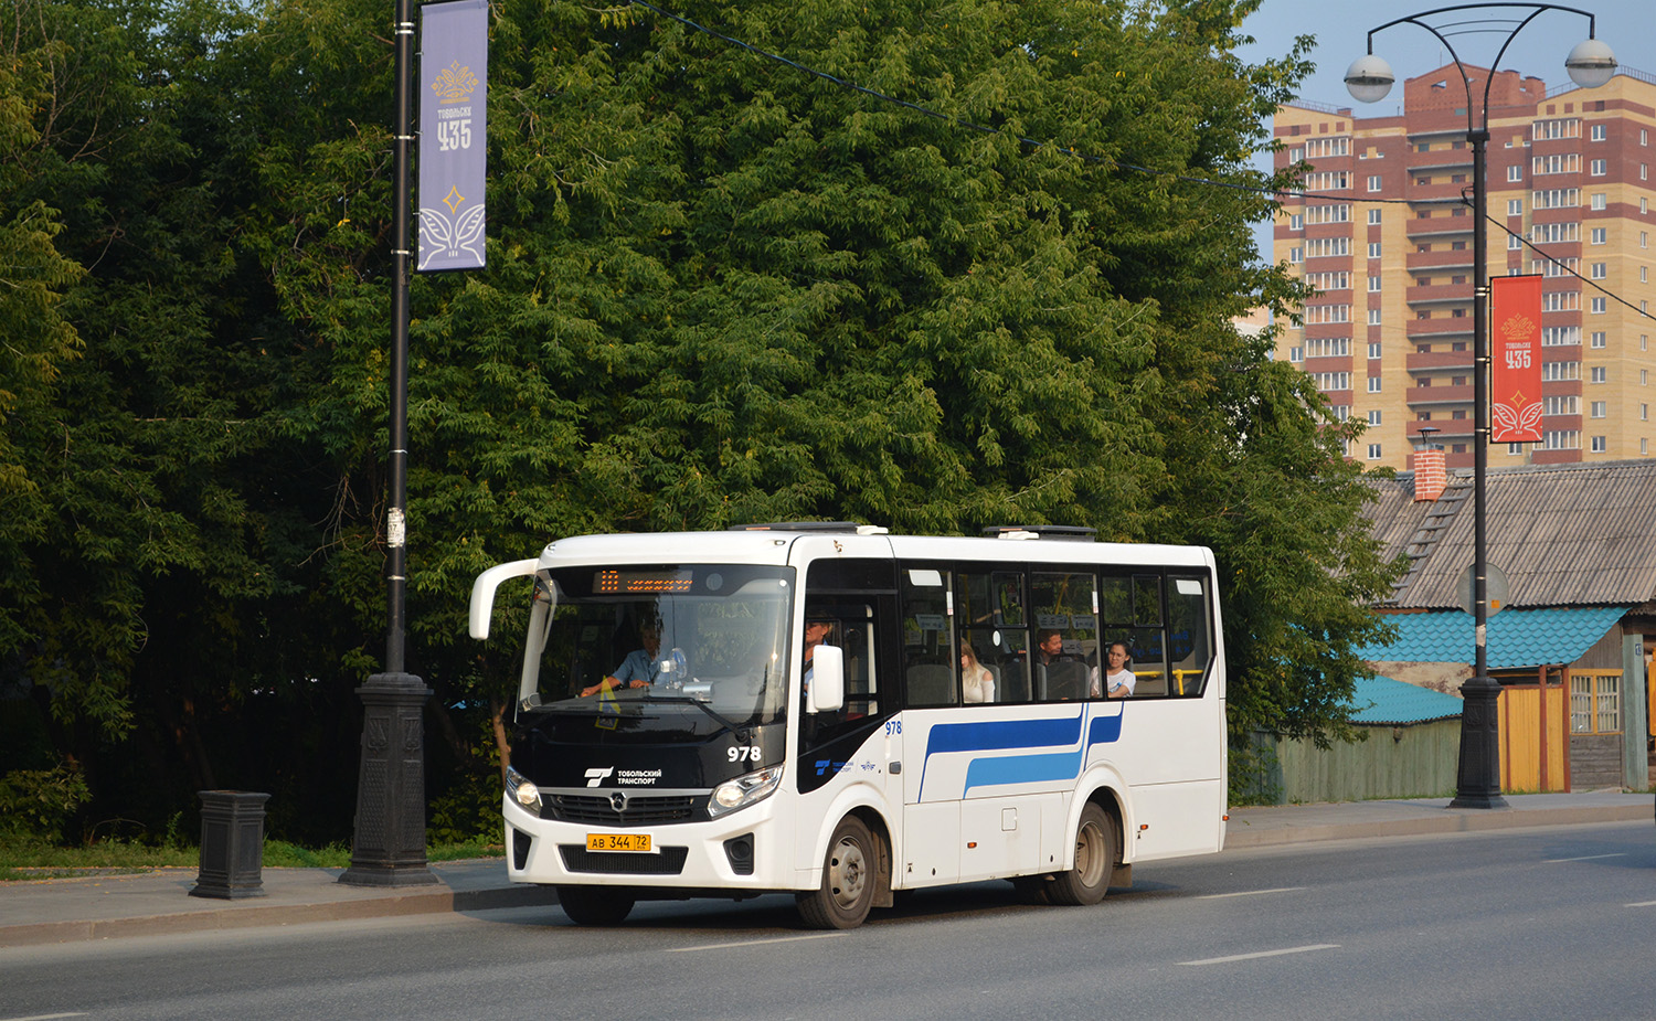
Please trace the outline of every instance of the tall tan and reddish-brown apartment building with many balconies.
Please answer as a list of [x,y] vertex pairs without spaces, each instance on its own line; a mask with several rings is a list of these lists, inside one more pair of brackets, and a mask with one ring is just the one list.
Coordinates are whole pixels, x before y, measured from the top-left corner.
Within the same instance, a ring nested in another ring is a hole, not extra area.
[[[1484,68],[1467,70],[1482,96]],[[1403,101],[1277,111],[1277,167],[1305,161],[1273,258],[1317,288],[1277,357],[1368,422],[1348,455],[1411,468],[1421,429],[1472,465],[1472,149],[1454,65]],[[1492,468],[1653,457],[1656,422],[1656,74],[1547,89],[1500,71],[1489,91],[1489,275],[1540,273],[1540,443],[1495,443]],[[1389,116],[1386,111],[1391,111]]]

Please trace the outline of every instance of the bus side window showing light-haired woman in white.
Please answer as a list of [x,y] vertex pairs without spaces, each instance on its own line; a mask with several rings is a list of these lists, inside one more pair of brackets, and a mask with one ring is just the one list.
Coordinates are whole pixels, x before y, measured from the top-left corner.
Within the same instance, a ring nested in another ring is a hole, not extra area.
[[[960,662],[956,667],[965,700],[1028,702],[1023,576],[1017,571],[962,571],[954,578],[954,592],[960,630]],[[982,667],[975,683],[967,678],[972,672],[967,655]]]

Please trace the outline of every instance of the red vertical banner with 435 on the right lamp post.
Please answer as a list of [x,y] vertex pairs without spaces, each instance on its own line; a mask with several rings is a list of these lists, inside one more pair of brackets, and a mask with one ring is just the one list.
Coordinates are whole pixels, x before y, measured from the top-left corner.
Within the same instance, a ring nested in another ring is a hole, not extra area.
[[1542,278],[1489,281],[1489,442],[1542,442]]

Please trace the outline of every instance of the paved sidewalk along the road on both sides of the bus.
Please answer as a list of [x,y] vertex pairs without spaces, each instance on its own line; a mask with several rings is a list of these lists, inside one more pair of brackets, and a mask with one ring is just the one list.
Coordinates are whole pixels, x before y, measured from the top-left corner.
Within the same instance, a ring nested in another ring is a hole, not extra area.
[[[1348,837],[1472,832],[1517,826],[1653,821],[1651,794],[1515,794],[1507,809],[1451,809],[1447,798],[1346,801],[1232,809],[1225,847],[1267,847]],[[190,897],[195,869],[139,875],[0,884],[0,947],[33,947],[159,933],[296,925],[507,907],[551,907],[553,890],[507,882],[500,859],[431,865],[436,885],[368,889],[338,882],[339,869],[265,869],[263,897]]]

